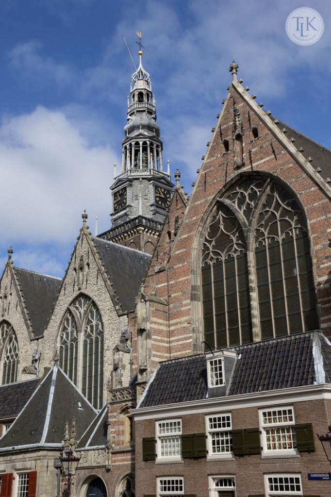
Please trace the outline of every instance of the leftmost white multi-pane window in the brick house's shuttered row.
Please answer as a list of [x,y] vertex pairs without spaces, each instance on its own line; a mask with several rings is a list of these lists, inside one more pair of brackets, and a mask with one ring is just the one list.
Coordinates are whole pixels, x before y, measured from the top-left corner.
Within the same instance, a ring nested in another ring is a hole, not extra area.
[[181,420],[158,421],[156,426],[158,457],[181,457]]

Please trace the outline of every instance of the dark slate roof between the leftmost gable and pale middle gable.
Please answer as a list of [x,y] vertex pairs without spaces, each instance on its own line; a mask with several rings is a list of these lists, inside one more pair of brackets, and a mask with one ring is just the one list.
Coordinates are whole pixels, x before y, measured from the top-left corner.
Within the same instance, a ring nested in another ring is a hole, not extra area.
[[39,337],[47,325],[62,279],[18,267],[13,267],[13,271],[25,300],[33,335]]

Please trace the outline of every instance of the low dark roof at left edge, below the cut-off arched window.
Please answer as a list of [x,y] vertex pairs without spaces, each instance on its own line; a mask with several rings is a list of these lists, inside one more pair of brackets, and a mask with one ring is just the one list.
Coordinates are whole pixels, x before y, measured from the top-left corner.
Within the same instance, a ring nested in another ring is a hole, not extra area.
[[0,419],[16,417],[40,383],[40,378],[0,386]]

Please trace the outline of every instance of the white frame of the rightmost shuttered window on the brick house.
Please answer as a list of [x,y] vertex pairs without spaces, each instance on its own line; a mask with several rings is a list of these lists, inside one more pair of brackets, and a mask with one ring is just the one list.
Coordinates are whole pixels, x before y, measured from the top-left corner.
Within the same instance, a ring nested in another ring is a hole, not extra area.
[[[287,413],[287,415],[286,415]],[[290,421],[282,421],[281,418],[288,417],[291,413],[292,419]],[[278,418],[272,421],[272,418]],[[266,418],[271,419],[266,422]],[[263,457],[300,457],[299,452],[294,448],[295,438],[295,416],[293,406],[275,406],[259,410],[259,421],[262,438],[262,458]],[[288,432],[286,432],[288,429]],[[275,445],[270,448],[270,439],[274,438],[271,443]],[[286,438],[289,437],[287,440]],[[287,444],[292,444],[292,447],[286,447]],[[277,447],[278,445],[278,447]],[[280,447],[279,445],[282,445]]]

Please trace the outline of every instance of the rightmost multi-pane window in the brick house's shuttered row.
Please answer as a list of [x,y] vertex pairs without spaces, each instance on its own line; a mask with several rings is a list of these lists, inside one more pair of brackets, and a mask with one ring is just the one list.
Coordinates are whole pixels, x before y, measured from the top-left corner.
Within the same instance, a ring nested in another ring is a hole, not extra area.
[[260,411],[264,452],[291,451],[296,445],[293,407]]

